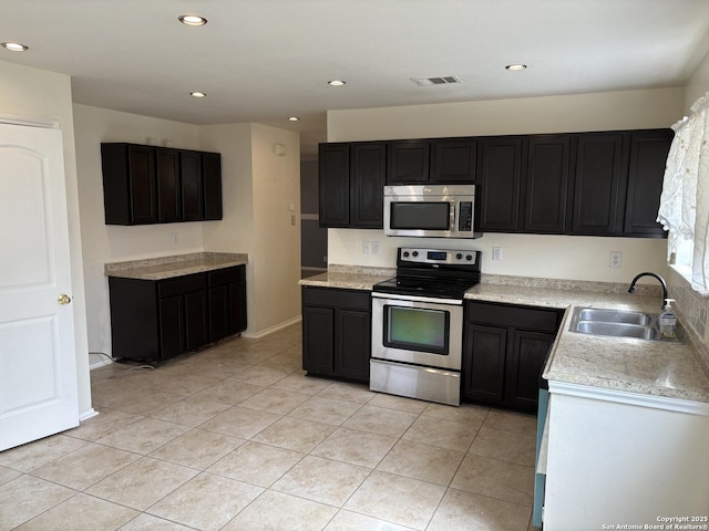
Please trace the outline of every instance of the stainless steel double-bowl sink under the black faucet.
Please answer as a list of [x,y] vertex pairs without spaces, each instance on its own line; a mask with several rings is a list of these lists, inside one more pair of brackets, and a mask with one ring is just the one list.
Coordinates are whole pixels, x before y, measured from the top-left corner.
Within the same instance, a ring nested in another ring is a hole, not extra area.
[[661,339],[656,314],[603,308],[575,308],[569,331],[649,341]]

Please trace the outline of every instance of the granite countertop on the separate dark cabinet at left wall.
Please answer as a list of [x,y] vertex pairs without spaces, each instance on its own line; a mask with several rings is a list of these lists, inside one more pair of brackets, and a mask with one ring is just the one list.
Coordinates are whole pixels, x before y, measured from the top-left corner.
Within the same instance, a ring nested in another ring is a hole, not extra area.
[[248,263],[248,254],[230,252],[193,252],[171,257],[111,262],[104,267],[106,277],[164,280],[185,274],[215,271]]

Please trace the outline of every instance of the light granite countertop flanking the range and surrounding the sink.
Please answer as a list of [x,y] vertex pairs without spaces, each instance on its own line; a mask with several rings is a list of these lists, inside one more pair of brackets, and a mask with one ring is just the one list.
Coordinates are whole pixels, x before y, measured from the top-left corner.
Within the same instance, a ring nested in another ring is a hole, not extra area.
[[[394,269],[335,267],[327,273],[302,279],[300,284],[371,290],[394,274]],[[483,274],[482,282],[469,290],[465,299],[565,310],[544,368],[547,381],[709,403],[707,351],[691,331],[684,330],[681,315],[681,342],[604,337],[568,330],[574,306],[659,313],[662,296],[658,288],[638,284],[638,293],[629,294],[625,284]]]

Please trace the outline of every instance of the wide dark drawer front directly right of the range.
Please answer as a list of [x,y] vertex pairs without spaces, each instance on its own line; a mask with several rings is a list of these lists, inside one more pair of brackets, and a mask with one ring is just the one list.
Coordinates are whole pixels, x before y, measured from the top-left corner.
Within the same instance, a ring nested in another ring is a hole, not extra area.
[[467,321],[556,333],[559,311],[512,304],[469,302]]

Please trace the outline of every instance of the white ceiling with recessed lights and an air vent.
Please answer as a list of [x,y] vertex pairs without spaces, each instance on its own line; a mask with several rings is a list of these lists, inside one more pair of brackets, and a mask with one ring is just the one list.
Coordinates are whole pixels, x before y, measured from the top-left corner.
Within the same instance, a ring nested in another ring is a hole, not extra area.
[[[327,110],[681,85],[709,0],[0,0],[0,41],[30,46],[0,61],[70,74],[76,103],[291,128],[308,153]],[[443,75],[463,83],[411,81]]]

